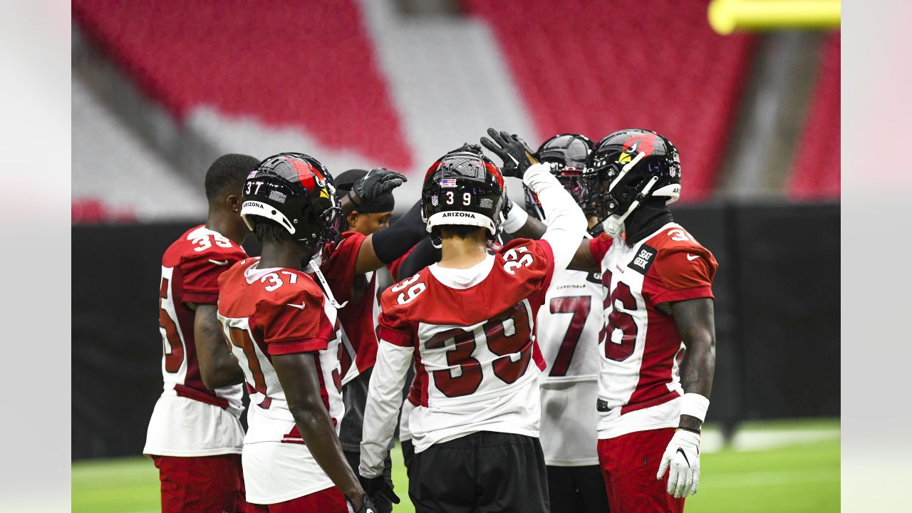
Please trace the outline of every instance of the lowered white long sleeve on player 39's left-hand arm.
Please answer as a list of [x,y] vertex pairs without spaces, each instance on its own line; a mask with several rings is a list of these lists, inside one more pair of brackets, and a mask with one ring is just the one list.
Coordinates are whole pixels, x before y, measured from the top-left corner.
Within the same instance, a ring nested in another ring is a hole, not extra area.
[[364,409],[361,463],[358,466],[361,476],[376,477],[383,472],[383,460],[396,430],[402,387],[405,386],[411,356],[412,348],[379,341],[377,363],[368,385],[368,404]]

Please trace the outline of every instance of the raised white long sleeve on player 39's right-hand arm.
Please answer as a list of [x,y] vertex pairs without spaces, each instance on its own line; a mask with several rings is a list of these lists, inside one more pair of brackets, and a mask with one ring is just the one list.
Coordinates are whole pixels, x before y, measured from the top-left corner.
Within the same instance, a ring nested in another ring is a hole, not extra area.
[[576,249],[586,236],[586,215],[573,196],[554,178],[547,165],[537,163],[530,166],[523,175],[523,183],[542,202],[544,218],[548,220],[548,229],[542,239],[548,241],[554,252],[554,274],[560,273],[570,265]]

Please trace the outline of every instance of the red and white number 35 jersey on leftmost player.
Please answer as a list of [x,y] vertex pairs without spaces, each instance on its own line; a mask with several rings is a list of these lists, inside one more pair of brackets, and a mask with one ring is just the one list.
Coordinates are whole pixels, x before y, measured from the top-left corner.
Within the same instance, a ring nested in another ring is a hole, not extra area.
[[[220,420],[222,414],[211,409],[230,409],[240,415],[243,390],[240,384],[214,391],[202,384],[193,321],[195,305],[217,303],[219,277],[246,256],[241,246],[199,225],[187,230],[161,257],[159,330],[164,392],[152,414],[145,454],[224,454],[226,445],[234,446],[228,452],[240,452],[240,424]],[[237,443],[232,441],[235,438]]]

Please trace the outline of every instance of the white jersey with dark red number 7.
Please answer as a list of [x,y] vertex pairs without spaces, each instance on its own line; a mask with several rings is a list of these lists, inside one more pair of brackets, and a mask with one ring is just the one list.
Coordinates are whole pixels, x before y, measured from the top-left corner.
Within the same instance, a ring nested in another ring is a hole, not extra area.
[[536,319],[547,368],[539,377],[541,441],[549,466],[598,464],[596,413],[598,334],[605,287],[601,273],[555,276]]

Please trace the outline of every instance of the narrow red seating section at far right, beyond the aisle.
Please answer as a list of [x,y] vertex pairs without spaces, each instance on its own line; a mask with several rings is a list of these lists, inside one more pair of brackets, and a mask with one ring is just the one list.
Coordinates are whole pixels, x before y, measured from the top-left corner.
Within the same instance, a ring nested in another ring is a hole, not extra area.
[[820,51],[817,83],[811,95],[787,193],[793,199],[839,199],[840,34]]

